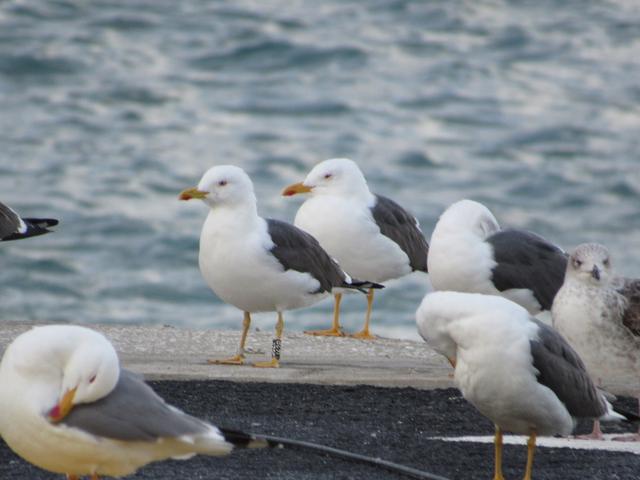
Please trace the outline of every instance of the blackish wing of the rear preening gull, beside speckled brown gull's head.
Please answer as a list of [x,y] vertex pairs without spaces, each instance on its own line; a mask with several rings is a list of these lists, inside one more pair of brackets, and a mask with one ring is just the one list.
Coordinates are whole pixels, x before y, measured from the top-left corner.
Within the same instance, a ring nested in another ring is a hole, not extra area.
[[524,230],[501,230],[486,240],[497,265],[492,281],[501,292],[526,288],[543,310],[550,310],[564,282],[567,255],[544,238]]

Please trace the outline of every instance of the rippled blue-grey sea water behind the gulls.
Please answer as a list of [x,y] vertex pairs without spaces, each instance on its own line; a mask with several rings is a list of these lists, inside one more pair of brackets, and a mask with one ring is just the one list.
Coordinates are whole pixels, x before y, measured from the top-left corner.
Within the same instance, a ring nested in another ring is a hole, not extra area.
[[[0,316],[237,329],[198,271],[205,207],[178,192],[235,164],[292,220],[280,190],[334,156],[427,236],[474,198],[640,276],[639,79],[633,0],[3,1],[0,200],[62,224],[0,245]],[[390,283],[374,331],[415,338],[426,284]],[[344,302],[348,329],[364,307]]]

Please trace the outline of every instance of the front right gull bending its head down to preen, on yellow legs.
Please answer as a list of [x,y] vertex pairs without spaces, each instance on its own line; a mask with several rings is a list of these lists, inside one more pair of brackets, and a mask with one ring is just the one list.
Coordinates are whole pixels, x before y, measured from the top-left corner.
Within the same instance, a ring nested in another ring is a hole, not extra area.
[[529,435],[524,478],[530,480],[537,435],[568,435],[577,418],[640,420],[614,411],[566,340],[510,300],[434,292],[416,322],[455,366],[463,397],[495,424],[494,480],[503,480],[503,431]]

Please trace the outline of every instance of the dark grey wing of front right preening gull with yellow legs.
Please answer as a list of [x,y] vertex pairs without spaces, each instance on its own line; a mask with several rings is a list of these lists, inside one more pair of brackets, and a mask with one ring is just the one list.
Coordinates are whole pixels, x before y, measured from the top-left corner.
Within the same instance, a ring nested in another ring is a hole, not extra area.
[[538,383],[551,389],[573,417],[604,415],[606,404],[578,354],[554,329],[531,321],[538,325],[538,338],[530,342]]

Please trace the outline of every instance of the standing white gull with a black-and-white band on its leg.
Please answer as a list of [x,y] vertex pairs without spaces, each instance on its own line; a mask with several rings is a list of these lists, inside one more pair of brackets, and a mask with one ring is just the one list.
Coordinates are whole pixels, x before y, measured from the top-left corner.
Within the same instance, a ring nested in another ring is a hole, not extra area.
[[232,165],[210,168],[181,200],[201,199],[209,215],[200,235],[200,271],[213,292],[244,311],[238,353],[211,363],[242,365],[253,312],[277,312],[272,358],[256,367],[278,367],[283,312],[312,305],[334,289],[381,288],[352,280],[318,241],[280,220],[258,216],[249,176]]

